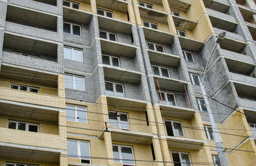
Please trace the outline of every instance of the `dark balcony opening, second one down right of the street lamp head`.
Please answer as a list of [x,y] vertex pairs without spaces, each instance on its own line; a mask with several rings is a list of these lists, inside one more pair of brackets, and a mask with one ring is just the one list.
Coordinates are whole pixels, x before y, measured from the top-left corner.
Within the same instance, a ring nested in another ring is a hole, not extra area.
[[246,64],[244,62],[240,62],[240,61],[236,61],[228,58],[225,58],[225,63],[227,64],[228,70],[231,73],[237,73],[237,74],[253,77],[252,73],[253,73],[253,69],[255,68],[255,65]]

